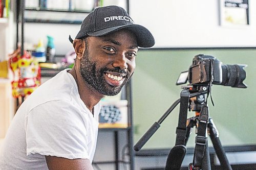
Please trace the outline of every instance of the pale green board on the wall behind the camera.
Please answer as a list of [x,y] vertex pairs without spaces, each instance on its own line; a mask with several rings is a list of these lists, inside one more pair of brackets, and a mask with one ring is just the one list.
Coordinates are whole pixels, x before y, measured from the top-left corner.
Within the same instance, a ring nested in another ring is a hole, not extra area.
[[[248,88],[213,85],[211,95],[215,106],[211,102],[208,105],[224,146],[256,144],[256,49],[253,48],[140,50],[132,83],[134,143],[180,98],[181,86],[175,83],[197,54],[214,56],[223,64],[248,65],[244,81]],[[172,148],[178,115],[179,105],[142,149]],[[188,112],[188,117],[194,115]],[[195,131],[187,146],[194,145]]]

